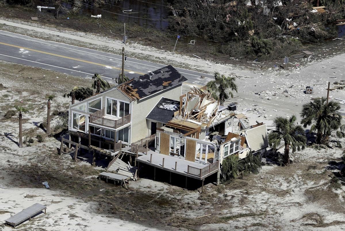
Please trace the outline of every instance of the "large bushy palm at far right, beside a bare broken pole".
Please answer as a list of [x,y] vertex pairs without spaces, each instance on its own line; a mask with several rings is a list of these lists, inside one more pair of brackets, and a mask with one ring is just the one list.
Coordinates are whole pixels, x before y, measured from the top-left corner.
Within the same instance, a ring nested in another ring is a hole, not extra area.
[[336,131],[338,137],[345,137],[345,125],[342,125],[342,115],[339,113],[340,104],[331,100],[327,104],[327,98],[317,98],[302,106],[300,113],[303,127],[311,125],[309,133],[317,132],[316,143],[327,142],[332,131]]

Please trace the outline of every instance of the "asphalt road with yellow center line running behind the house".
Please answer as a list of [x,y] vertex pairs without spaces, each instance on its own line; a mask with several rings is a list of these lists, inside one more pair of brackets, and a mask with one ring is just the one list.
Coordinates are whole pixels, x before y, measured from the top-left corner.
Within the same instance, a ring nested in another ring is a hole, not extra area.
[[[115,54],[31,38],[2,30],[0,30],[0,60],[85,78],[90,78],[93,74],[98,73],[107,78],[109,82],[114,82],[111,79],[118,76],[122,63],[122,57]],[[126,76],[132,78],[166,65],[127,57],[124,69]],[[176,69],[191,84],[205,85],[209,79],[201,79],[200,76],[211,77],[209,74],[196,71]]]

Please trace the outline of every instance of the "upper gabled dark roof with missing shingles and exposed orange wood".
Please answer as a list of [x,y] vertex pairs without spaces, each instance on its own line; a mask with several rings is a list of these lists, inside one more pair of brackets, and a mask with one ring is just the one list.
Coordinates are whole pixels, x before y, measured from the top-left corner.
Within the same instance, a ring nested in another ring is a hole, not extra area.
[[151,73],[135,77],[123,86],[119,86],[119,88],[132,98],[142,99],[185,81],[187,81],[187,79],[174,67],[169,65],[152,71]]

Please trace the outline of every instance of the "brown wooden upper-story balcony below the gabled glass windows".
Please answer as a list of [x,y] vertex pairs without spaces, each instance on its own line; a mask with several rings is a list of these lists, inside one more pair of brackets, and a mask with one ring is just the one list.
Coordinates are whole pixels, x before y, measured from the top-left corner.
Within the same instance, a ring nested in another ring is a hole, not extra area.
[[99,111],[96,111],[93,114],[90,114],[89,122],[94,123],[94,124],[98,124],[98,125],[102,125],[104,127],[115,128],[115,129],[131,122],[130,121],[130,118],[131,118],[130,114],[126,115],[123,118],[119,118],[116,120],[105,118],[105,116],[106,116],[106,112],[105,112],[105,108],[103,108]]

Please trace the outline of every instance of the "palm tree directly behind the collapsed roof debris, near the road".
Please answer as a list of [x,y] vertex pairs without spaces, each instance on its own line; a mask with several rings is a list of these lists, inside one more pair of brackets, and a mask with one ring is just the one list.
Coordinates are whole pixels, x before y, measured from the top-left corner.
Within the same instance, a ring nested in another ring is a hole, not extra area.
[[[215,80],[210,81],[206,85],[207,90],[211,93],[211,97],[218,100],[220,104],[223,104],[225,100],[234,97],[231,91],[237,92],[237,85],[235,83],[235,77],[226,77],[224,74],[215,72]],[[228,90],[231,90],[227,92]]]

